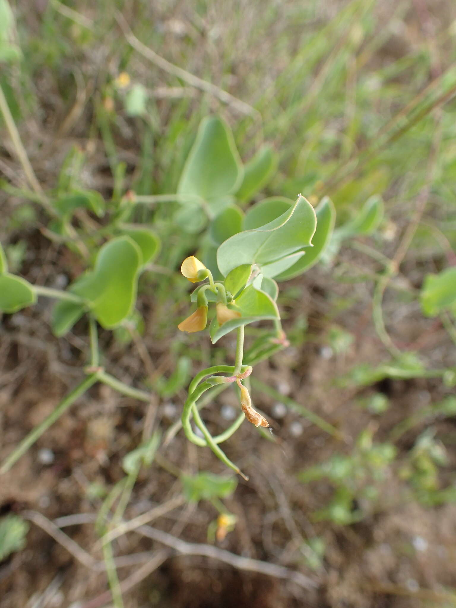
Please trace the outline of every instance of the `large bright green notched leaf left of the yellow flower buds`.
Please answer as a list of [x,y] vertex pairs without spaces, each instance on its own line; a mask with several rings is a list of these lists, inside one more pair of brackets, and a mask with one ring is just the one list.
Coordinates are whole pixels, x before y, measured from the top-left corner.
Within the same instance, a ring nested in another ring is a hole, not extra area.
[[102,327],[111,329],[133,311],[141,263],[140,249],[130,237],[114,238],[98,252],[94,270],[70,291],[86,300]]

